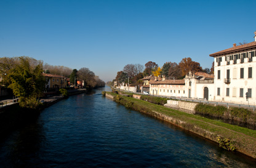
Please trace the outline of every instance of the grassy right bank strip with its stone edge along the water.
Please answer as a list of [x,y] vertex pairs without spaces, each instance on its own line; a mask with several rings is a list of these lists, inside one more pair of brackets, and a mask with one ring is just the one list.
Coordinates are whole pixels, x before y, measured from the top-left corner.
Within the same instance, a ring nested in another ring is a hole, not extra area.
[[113,92],[106,92],[105,94],[108,97],[111,95],[114,101],[121,103],[127,108],[132,108],[133,110],[170,122],[175,126],[217,142],[222,146],[225,145],[224,147],[228,147],[228,150],[235,148],[236,151],[256,159],[256,130],[214,121],[143,100],[124,97]]

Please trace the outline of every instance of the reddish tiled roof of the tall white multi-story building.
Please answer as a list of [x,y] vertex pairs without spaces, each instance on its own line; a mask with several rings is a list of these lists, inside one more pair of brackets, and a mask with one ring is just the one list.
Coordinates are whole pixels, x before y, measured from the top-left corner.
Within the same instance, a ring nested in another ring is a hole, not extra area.
[[214,54],[210,54],[210,57],[214,57],[214,56],[221,55],[221,54],[228,54],[231,52],[237,52],[239,50],[252,49],[252,48],[256,48],[256,41],[250,42],[248,44],[244,44],[241,46],[231,47],[229,49],[221,50],[219,52],[215,52]]

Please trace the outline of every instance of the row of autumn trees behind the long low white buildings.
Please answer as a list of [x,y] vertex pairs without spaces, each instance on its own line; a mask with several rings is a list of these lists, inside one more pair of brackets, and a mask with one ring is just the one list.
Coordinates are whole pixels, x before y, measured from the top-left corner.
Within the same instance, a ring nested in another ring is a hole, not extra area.
[[[124,66],[122,71],[118,71],[116,78],[108,84],[112,84],[117,81],[118,84],[122,82],[129,84],[142,84],[139,79],[145,78],[146,76],[156,76],[164,75],[166,79],[183,79],[188,72],[196,73],[199,71],[214,74],[214,62],[212,67],[202,69],[200,63],[194,62],[190,57],[183,58],[180,63],[176,62],[166,62],[162,67],[158,66],[156,62],[147,62],[145,66],[140,64],[128,64]],[[128,80],[129,79],[129,80]]]

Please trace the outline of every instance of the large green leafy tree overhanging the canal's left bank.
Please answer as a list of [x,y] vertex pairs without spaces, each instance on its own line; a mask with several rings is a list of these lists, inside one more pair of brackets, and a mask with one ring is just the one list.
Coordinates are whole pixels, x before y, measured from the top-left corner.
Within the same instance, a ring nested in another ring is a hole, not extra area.
[[28,58],[19,57],[18,65],[9,73],[12,83],[8,87],[13,90],[15,96],[19,97],[20,106],[37,108],[39,105],[38,98],[46,83],[44,76],[42,76],[42,63],[32,68]]

